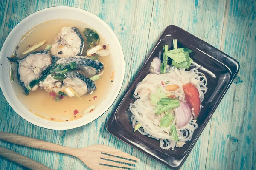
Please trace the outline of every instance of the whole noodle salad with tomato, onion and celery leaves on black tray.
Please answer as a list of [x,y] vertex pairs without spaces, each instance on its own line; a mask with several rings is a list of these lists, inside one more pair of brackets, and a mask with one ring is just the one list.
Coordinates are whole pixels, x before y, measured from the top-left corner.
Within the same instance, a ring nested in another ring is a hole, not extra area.
[[[160,140],[162,149],[172,150],[191,140],[207,92],[207,78],[198,71],[200,67],[191,65],[189,53],[193,51],[177,48],[177,40],[173,44],[172,50],[163,47],[163,62],[161,55],[153,59],[150,73],[137,84],[136,100],[130,105],[134,131]],[[167,65],[168,57],[172,65]]]

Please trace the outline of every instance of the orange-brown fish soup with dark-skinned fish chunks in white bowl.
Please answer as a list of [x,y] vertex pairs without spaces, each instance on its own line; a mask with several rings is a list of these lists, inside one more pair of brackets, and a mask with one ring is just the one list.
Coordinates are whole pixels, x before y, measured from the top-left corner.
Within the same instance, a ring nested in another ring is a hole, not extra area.
[[50,20],[32,28],[9,57],[12,88],[35,115],[72,121],[108,96],[114,61],[108,42],[85,23]]

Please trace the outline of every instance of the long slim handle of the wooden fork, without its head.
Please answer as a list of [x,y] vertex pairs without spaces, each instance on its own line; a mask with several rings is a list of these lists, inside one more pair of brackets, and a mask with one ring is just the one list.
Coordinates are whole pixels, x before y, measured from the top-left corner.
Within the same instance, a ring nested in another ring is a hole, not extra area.
[[73,148],[70,147],[64,147],[58,144],[53,144],[39,139],[6,132],[0,132],[0,139],[21,146],[32,147],[41,150],[49,150],[52,152],[65,153],[69,155],[72,155],[72,150],[74,150]]

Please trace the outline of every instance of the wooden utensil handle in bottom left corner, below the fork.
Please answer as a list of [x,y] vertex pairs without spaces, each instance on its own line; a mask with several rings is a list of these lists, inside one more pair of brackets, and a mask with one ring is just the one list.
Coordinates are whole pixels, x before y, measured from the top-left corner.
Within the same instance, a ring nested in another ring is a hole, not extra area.
[[20,155],[12,150],[0,147],[0,156],[32,170],[51,170],[49,167],[38,163],[26,156]]

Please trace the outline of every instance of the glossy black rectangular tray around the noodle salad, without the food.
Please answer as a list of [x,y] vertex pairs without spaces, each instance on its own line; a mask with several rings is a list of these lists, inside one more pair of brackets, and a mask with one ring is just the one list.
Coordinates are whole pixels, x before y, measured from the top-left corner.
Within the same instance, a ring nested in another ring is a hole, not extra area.
[[[194,60],[195,65],[203,66],[199,70],[207,77],[208,90],[202,102],[203,108],[201,108],[197,118],[198,128],[194,131],[191,141],[187,141],[181,148],[175,147],[174,150],[163,150],[159,145],[159,140],[134,132],[131,125],[131,112],[128,109],[130,103],[135,100],[133,93],[136,85],[149,73],[148,70],[152,60],[154,57],[159,56],[159,51],[163,54],[163,45],[169,44],[169,48],[171,47],[172,49],[173,39],[177,39],[178,48],[189,48],[194,51],[190,57]],[[235,59],[177,26],[167,26],[136,78],[129,86],[123,99],[111,114],[106,128],[109,133],[123,142],[166,167],[177,170],[191,152],[238,71],[239,63]]]

